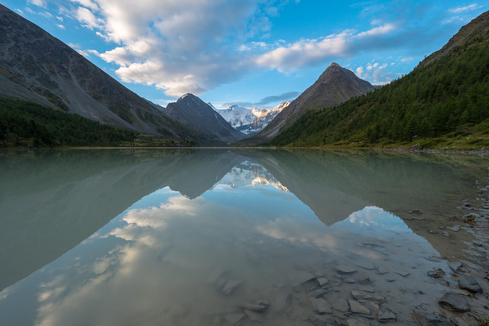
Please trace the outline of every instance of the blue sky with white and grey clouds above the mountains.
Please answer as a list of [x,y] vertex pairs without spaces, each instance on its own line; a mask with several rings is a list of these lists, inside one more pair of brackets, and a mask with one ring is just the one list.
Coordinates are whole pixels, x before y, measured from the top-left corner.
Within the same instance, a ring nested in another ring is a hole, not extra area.
[[273,108],[332,63],[407,74],[489,0],[0,0],[138,95]]

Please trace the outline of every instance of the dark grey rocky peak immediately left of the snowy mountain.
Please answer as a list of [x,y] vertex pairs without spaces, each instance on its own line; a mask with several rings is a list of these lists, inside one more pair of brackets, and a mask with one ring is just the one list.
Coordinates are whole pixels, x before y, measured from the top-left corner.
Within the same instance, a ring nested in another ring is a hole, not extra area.
[[163,113],[198,130],[212,142],[234,142],[245,137],[207,103],[191,93],[182,95],[177,102],[169,103]]

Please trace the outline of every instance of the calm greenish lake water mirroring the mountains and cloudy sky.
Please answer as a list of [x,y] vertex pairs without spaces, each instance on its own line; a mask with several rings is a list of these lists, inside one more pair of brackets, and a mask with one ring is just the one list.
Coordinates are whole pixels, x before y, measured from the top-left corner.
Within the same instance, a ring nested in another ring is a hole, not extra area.
[[[456,207],[476,200],[488,164],[378,151],[3,151],[0,324],[313,325],[310,291],[324,288],[336,325],[378,323],[341,311],[354,290],[384,297],[359,300],[372,318],[387,308],[411,325],[409,311],[439,311],[446,290],[427,271],[447,261],[429,257],[475,259],[464,251],[473,235],[449,218],[467,213]],[[429,233],[440,225],[462,229]],[[240,307],[263,300],[264,312]]]

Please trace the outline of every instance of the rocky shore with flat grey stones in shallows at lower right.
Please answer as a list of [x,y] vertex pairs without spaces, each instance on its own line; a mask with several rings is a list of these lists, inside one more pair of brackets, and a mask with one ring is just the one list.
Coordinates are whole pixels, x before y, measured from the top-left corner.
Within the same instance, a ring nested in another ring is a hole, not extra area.
[[[409,262],[395,269],[376,261],[324,264],[320,270],[303,268],[294,282],[280,287],[281,292],[270,298],[249,300],[249,291],[246,299],[233,298],[246,282],[226,279],[225,271],[217,269],[209,276],[208,284],[237,303],[235,309],[210,313],[209,322],[213,326],[489,325],[489,178],[474,186],[478,188],[477,197],[463,200],[457,209],[464,213],[452,219],[459,225],[427,230],[448,238],[455,246],[465,244],[465,253],[422,257],[442,266],[427,269],[424,278],[411,275],[415,270],[408,268],[416,267],[414,263],[407,267]],[[419,211],[410,213],[415,216]],[[458,240],[456,234],[464,231],[474,240]],[[384,261],[394,253],[391,246],[401,246],[381,240],[356,245],[385,255]]]

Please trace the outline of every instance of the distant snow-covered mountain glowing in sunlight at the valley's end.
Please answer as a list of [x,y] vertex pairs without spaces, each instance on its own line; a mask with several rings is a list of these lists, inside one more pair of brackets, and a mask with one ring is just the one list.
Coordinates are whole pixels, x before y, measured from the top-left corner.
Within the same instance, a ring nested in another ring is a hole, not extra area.
[[214,110],[235,129],[246,135],[252,135],[265,128],[289,104],[289,101],[283,102],[273,109],[246,109],[242,106],[231,105],[225,110],[215,108]]

